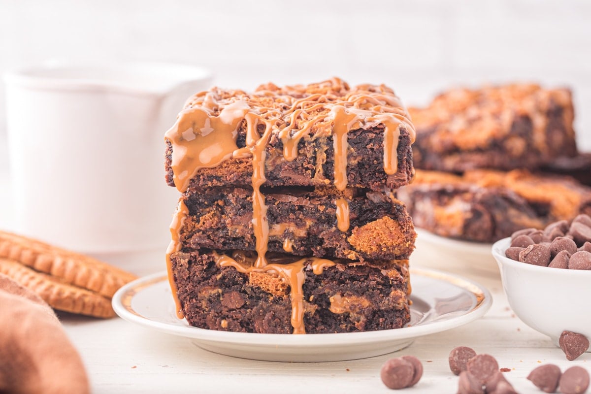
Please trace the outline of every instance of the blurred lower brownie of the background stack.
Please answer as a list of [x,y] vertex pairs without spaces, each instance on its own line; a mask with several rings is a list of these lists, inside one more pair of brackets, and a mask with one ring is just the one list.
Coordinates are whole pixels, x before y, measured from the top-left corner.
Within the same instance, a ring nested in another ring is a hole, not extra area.
[[463,176],[417,170],[414,183],[398,191],[398,198],[415,226],[479,242],[591,213],[591,188],[570,177],[525,170],[474,170]]

